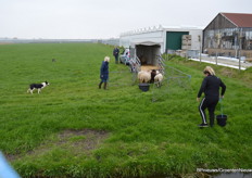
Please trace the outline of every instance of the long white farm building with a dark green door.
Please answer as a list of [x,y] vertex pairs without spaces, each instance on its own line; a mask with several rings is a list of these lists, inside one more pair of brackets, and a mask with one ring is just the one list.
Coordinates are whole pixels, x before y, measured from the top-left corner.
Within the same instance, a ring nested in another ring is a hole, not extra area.
[[[126,31],[119,36],[119,46],[125,48],[136,43],[154,43],[161,53],[168,50],[200,50],[202,29],[198,27],[149,27]],[[134,47],[133,47],[134,48]]]

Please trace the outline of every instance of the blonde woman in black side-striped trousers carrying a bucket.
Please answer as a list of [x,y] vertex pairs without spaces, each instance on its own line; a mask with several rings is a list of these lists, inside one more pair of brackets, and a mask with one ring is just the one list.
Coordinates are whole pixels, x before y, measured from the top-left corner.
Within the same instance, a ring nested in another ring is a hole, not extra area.
[[215,72],[212,67],[206,66],[203,71],[205,78],[202,81],[201,88],[198,92],[197,101],[200,102],[202,92],[204,98],[201,100],[199,105],[202,124],[199,127],[209,127],[206,123],[205,109],[209,110],[210,126],[214,125],[214,111],[219,100],[219,87],[222,87],[220,98],[224,98],[226,86],[220,78],[215,76]]

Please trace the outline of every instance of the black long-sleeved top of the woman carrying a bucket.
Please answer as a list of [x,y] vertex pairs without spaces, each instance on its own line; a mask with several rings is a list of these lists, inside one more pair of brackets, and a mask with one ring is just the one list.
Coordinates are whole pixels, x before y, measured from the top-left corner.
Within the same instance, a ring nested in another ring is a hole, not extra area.
[[204,92],[205,98],[218,98],[219,97],[219,87],[222,87],[220,94],[224,96],[224,93],[226,91],[225,84],[222,81],[220,78],[218,78],[214,75],[209,75],[202,81],[201,88],[198,92],[198,98],[201,97],[202,92]]

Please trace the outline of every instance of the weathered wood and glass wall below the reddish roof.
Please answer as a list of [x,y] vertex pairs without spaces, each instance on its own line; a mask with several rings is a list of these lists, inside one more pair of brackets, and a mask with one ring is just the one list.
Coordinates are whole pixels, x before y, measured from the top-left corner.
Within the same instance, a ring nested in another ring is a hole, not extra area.
[[218,14],[203,30],[203,51],[212,54],[219,51],[220,55],[250,58],[252,50],[252,27],[237,27],[222,14]]

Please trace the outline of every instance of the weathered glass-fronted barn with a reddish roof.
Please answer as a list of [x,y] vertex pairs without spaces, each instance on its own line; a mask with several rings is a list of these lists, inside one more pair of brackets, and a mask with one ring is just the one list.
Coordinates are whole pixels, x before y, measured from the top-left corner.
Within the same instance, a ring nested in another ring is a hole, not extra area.
[[203,29],[202,49],[210,55],[252,59],[252,14],[218,13]]

